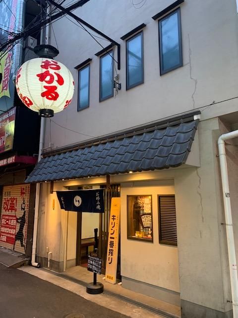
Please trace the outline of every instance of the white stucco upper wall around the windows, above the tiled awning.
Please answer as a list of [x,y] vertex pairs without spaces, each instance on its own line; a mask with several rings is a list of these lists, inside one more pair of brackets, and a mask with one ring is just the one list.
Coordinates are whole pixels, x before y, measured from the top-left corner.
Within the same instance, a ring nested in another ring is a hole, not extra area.
[[[100,59],[94,54],[102,48],[66,17],[54,22],[60,50],[57,59],[72,72],[75,94],[65,111],[47,121],[45,148],[50,143],[52,148],[61,147],[160,120],[210,105],[213,101],[214,105],[202,108],[203,119],[236,110],[236,99],[216,104],[237,96],[238,18],[235,1],[184,1],[180,5],[183,67],[160,76],[158,21],[151,16],[172,2],[150,0],[142,8],[135,9],[128,0],[120,0],[119,5],[117,1],[90,0],[74,10],[76,15],[121,45],[121,70],[118,74],[122,89],[116,98],[101,103]],[[126,91],[125,41],[120,37],[141,23],[147,24],[143,29],[144,84]],[[104,47],[109,44],[97,40]],[[53,32],[50,42],[56,45]],[[93,59],[90,64],[90,107],[77,112],[78,72],[74,67],[88,58]]]

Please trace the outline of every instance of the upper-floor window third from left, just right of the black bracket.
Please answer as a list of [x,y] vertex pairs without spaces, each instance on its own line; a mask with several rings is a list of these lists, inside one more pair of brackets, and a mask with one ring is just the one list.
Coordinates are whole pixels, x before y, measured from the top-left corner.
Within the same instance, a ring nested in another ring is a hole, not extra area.
[[140,32],[126,41],[126,89],[143,82],[143,32]]

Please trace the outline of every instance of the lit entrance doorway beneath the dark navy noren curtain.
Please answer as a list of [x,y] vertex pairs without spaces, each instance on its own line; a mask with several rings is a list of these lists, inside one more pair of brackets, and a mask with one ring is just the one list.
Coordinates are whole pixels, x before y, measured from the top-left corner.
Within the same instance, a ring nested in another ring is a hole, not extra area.
[[[109,219],[112,197],[120,197],[120,185],[113,184],[94,186],[73,186],[69,190],[104,189],[104,213],[68,212],[67,234],[66,234],[66,255],[64,270],[73,266],[87,267],[88,254],[95,246],[94,229],[98,229],[98,255],[103,259],[102,273],[105,274],[108,246]],[[71,220],[73,218],[73,220]],[[72,222],[71,222],[72,221]],[[120,246],[120,245],[119,245]],[[74,259],[69,261],[69,251],[74,250]],[[118,279],[120,279],[120,247],[118,255]]]

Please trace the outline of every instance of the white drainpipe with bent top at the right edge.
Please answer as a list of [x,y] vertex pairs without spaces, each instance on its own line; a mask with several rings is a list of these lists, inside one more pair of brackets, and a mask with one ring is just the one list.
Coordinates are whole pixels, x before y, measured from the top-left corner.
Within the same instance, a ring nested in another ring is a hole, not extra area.
[[225,141],[236,137],[238,137],[238,130],[223,134],[218,139],[234,318],[238,318],[238,275]]

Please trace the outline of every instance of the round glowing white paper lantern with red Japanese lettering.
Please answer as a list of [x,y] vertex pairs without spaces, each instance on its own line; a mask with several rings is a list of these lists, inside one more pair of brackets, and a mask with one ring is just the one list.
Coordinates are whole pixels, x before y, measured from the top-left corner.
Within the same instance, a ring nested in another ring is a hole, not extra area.
[[16,91],[28,108],[43,117],[52,117],[71,102],[74,81],[62,63],[37,58],[25,62],[17,71]]

